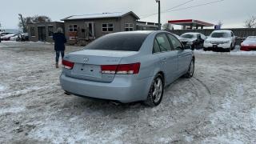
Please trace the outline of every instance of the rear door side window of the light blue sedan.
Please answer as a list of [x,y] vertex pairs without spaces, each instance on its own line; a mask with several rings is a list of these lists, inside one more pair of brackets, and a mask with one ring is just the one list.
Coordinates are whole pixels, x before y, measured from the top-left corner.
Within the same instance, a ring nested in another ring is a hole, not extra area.
[[161,51],[170,51],[171,50],[171,46],[168,41],[168,38],[166,37],[166,34],[158,34],[156,40],[158,42],[158,45],[159,45],[159,48]]

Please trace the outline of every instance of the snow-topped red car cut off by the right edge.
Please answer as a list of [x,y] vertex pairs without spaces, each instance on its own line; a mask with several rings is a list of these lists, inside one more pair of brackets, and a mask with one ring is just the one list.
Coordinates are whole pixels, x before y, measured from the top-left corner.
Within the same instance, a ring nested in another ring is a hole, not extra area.
[[244,51],[256,50],[256,36],[247,37],[245,41],[241,43],[241,49]]

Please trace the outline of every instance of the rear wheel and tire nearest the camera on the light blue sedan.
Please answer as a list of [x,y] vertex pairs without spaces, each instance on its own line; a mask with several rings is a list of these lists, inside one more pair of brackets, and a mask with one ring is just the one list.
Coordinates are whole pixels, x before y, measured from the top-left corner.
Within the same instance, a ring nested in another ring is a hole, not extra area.
[[150,86],[150,91],[147,96],[146,101],[144,102],[146,106],[154,107],[158,106],[162,102],[162,95],[164,91],[164,81],[163,77],[161,74],[158,74],[151,86]]

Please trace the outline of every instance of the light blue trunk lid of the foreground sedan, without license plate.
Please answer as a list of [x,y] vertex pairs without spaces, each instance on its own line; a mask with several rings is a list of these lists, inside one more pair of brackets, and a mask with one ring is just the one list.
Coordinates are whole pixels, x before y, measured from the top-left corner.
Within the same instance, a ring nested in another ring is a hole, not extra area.
[[115,74],[102,74],[101,66],[118,65],[123,57],[138,52],[115,50],[82,50],[66,56],[66,60],[74,62],[74,67],[67,73],[73,78],[94,82],[112,82]]

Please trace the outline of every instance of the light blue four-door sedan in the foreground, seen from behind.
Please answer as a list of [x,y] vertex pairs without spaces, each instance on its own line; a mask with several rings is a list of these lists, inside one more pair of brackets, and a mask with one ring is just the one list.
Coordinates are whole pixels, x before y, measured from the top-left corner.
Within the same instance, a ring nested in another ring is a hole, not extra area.
[[158,106],[164,87],[194,74],[194,53],[166,31],[107,34],[67,54],[60,76],[66,94]]

